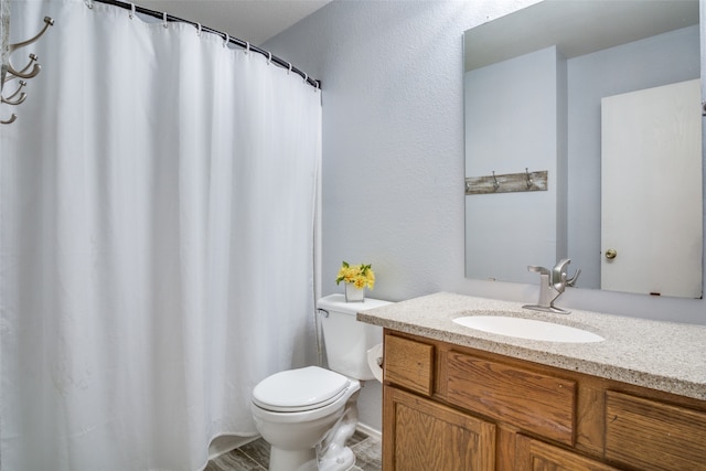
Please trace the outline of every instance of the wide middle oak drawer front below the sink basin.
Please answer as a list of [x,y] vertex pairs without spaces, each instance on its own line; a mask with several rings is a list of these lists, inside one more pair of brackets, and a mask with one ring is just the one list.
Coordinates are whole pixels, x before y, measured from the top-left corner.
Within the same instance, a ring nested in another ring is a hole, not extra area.
[[446,388],[454,405],[574,445],[574,381],[450,351]]

